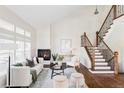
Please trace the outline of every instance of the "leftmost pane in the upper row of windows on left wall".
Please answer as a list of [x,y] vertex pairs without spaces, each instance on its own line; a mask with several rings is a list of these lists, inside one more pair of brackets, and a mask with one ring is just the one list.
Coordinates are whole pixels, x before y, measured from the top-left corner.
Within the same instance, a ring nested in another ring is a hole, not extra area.
[[0,19],[0,28],[6,29],[8,31],[14,31],[14,25],[3,19]]

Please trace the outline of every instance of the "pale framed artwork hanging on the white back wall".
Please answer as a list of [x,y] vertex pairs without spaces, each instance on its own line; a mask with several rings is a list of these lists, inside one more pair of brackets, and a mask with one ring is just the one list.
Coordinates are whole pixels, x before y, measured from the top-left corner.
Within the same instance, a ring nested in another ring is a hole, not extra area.
[[62,52],[70,52],[71,49],[71,39],[63,39],[61,40],[61,51]]

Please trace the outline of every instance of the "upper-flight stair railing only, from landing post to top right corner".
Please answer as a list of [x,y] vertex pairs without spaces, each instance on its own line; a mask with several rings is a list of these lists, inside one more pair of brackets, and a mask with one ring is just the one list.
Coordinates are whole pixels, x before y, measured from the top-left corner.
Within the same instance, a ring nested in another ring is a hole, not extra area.
[[111,25],[113,24],[113,20],[123,15],[124,15],[124,5],[113,5],[111,7],[108,15],[106,16],[103,24],[101,25],[100,30],[96,32],[96,46],[100,44],[100,41],[98,41],[98,35],[101,38],[104,38],[105,34],[111,28]]

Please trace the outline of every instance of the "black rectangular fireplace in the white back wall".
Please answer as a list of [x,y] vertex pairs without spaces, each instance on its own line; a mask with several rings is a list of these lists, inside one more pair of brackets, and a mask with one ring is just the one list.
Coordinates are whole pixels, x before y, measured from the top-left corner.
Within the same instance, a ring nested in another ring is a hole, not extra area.
[[38,57],[43,57],[44,60],[50,60],[51,50],[50,49],[38,49]]

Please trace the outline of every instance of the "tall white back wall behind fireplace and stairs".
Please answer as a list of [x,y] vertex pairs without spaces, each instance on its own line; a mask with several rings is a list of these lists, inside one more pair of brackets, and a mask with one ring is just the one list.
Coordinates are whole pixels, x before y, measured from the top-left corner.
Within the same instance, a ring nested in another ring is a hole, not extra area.
[[[96,31],[102,25],[111,6],[99,6],[99,14],[94,15],[94,6],[89,6],[73,15],[58,20],[51,26],[39,29],[37,33],[37,49],[51,48],[52,52],[61,52],[61,39],[71,39],[72,49],[80,50],[81,35],[86,32],[95,44]],[[83,51],[82,51],[83,52]],[[78,52],[79,53],[79,52]],[[80,53],[79,53],[80,54]],[[90,67],[90,66],[88,66]]]

